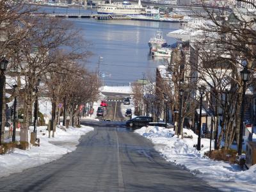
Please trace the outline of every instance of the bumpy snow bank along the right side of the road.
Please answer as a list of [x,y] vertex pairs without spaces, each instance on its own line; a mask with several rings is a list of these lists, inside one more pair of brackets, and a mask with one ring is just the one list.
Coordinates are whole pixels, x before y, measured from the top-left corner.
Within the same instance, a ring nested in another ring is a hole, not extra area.
[[[256,164],[249,170],[241,170],[237,164],[223,161],[213,161],[204,157],[204,152],[209,151],[210,140],[202,139],[204,145],[198,152],[193,145],[197,143],[198,136],[191,130],[184,129],[188,136],[193,138],[177,138],[173,136],[173,129],[163,127],[141,127],[135,132],[152,140],[157,151],[163,154],[166,161],[173,162],[207,180],[212,186],[223,191],[256,191]],[[212,141],[214,146],[214,141]]]

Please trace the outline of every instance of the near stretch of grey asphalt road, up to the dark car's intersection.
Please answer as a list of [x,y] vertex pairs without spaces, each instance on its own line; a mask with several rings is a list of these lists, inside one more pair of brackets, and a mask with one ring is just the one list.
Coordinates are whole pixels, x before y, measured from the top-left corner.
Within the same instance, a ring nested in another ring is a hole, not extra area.
[[117,122],[92,122],[70,154],[0,179],[0,191],[217,191]]

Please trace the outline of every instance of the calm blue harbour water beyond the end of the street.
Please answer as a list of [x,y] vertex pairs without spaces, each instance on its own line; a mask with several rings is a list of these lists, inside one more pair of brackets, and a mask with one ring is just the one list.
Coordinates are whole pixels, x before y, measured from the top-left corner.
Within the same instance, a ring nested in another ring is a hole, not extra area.
[[[40,6],[38,11],[47,13],[97,13],[86,8],[57,8]],[[156,78],[157,65],[165,65],[166,59],[152,57],[148,40],[157,30],[163,31],[163,36],[172,45],[177,39],[166,36],[166,33],[179,29],[180,23],[152,22],[138,20],[97,20],[97,19],[67,19],[80,29],[88,51],[92,56],[83,63],[90,72],[96,72],[99,66],[102,83],[108,86],[127,86],[143,76]],[[99,60],[99,58],[101,58]]]

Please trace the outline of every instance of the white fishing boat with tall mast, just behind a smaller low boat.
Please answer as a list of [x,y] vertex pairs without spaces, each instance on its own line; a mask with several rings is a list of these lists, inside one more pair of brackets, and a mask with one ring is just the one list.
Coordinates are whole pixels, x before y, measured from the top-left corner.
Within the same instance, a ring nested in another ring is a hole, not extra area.
[[161,30],[158,30],[156,35],[153,38],[150,38],[148,46],[150,51],[157,51],[157,49],[168,46],[166,40],[163,38],[163,32]]

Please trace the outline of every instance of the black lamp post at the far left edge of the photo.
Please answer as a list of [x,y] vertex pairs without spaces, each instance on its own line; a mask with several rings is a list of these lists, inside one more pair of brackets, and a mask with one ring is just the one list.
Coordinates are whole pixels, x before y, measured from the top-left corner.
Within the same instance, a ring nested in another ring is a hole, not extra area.
[[7,61],[5,58],[0,59],[0,69],[1,69],[1,74],[0,74],[0,145],[2,144],[2,129],[4,129],[3,124],[3,106],[4,106],[4,86],[5,86],[5,76],[4,76],[4,71],[7,68],[9,61]]

